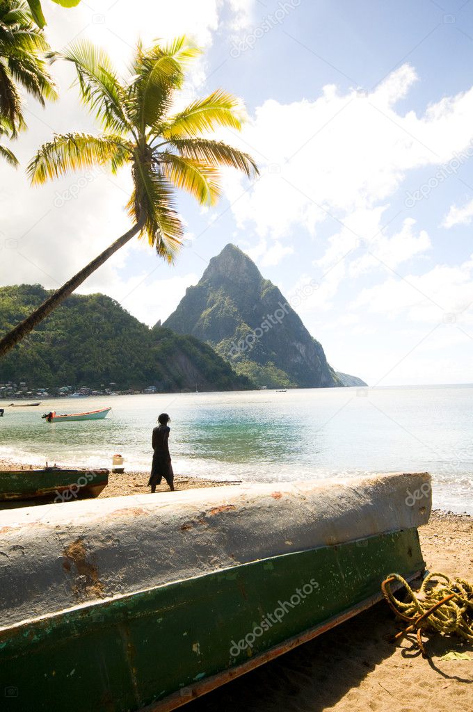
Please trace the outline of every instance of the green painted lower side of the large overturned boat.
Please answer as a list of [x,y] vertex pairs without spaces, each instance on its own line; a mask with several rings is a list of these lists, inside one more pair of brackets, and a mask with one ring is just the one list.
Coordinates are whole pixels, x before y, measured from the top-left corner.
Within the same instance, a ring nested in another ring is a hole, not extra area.
[[410,529],[251,562],[5,629],[1,687],[18,691],[4,698],[5,708],[137,710],[343,613],[378,593],[390,572],[410,575],[423,567],[417,530]]

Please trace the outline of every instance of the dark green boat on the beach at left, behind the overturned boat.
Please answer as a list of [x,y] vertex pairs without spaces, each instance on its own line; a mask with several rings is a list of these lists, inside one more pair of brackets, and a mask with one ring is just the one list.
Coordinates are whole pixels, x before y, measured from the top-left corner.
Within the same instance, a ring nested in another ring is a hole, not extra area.
[[106,469],[71,470],[46,467],[38,470],[0,470],[1,503],[30,500],[55,502],[98,497],[108,485]]

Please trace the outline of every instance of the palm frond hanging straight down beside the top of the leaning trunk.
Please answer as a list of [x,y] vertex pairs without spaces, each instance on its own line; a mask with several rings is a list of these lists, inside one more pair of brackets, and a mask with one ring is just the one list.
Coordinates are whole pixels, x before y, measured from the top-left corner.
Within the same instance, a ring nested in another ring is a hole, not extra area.
[[172,186],[150,164],[137,163],[133,167],[135,189],[128,202],[130,216],[138,221],[144,213],[149,244],[160,257],[172,262],[182,246],[184,228],[176,211]]

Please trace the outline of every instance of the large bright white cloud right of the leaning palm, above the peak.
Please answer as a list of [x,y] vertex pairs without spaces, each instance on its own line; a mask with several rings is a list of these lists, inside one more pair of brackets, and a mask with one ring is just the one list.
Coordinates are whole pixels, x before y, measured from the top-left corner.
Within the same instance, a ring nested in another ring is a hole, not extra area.
[[[397,112],[416,78],[404,65],[372,93],[329,85],[316,100],[264,102],[241,141],[262,177],[232,206],[238,224],[276,240],[298,226],[316,235],[324,222],[378,210],[411,169],[464,150],[473,137],[473,88],[423,115]],[[234,182],[228,189],[231,199],[241,192]]]

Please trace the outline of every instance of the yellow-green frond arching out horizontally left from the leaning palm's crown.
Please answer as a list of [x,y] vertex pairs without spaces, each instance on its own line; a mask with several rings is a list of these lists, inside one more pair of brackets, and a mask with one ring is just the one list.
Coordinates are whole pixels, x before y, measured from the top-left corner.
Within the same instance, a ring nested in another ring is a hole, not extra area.
[[83,133],[56,135],[28,163],[31,183],[42,184],[69,171],[110,164],[112,169],[132,159],[132,145],[118,135],[92,136]]

